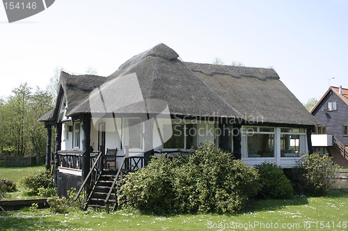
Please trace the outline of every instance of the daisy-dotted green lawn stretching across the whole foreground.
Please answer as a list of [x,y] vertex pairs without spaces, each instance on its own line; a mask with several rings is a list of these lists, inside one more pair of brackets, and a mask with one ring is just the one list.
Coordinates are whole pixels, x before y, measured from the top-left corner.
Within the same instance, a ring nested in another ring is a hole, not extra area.
[[[105,212],[70,212],[52,214],[49,210],[0,214],[0,230],[232,230],[232,225],[246,224],[235,230],[347,230],[348,190],[329,191],[318,198],[260,200],[253,209],[239,215],[172,214],[157,216],[121,210]],[[322,223],[321,223],[322,222]],[[280,228],[263,228],[261,225]],[[249,226],[251,224],[252,226]],[[255,225],[256,224],[256,225]],[[258,225],[259,224],[259,225]],[[281,228],[285,225],[285,228]],[[287,226],[286,226],[287,225]],[[304,226],[306,225],[306,226]],[[324,228],[320,228],[324,225]],[[335,227],[333,227],[335,225]],[[211,228],[211,229],[209,229]]]

